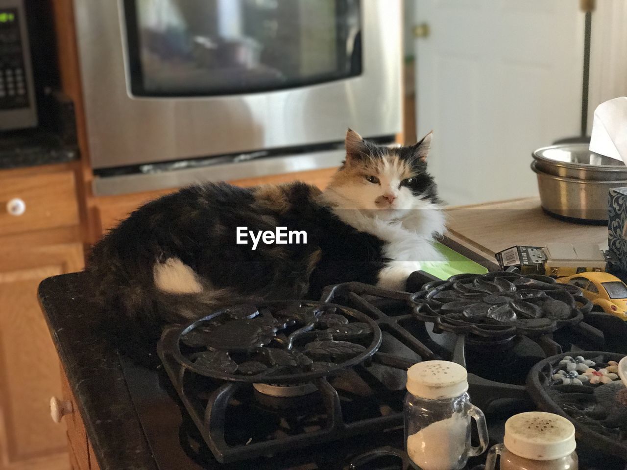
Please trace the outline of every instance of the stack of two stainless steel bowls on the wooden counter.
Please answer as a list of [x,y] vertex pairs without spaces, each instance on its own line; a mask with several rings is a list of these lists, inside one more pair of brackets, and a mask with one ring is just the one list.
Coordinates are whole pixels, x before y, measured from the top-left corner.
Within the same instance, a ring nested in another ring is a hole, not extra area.
[[532,154],[542,208],[558,217],[588,223],[608,221],[608,191],[627,186],[627,167],[595,154],[587,144],[542,147]]

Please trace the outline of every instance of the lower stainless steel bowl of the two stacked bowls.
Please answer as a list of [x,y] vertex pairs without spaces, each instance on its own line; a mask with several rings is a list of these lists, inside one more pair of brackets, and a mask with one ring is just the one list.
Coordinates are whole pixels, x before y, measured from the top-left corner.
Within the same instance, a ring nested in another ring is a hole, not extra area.
[[627,178],[616,181],[565,178],[541,171],[537,161],[531,169],[538,177],[540,204],[557,216],[599,224],[608,221],[609,189],[627,186]]

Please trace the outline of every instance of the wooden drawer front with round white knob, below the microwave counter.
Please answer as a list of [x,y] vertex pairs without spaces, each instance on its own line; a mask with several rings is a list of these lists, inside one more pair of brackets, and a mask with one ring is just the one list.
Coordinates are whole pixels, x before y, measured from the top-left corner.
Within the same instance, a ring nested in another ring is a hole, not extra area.
[[[9,214],[12,199],[26,204],[20,216]],[[3,177],[0,181],[0,236],[80,223],[74,173],[63,171]]]

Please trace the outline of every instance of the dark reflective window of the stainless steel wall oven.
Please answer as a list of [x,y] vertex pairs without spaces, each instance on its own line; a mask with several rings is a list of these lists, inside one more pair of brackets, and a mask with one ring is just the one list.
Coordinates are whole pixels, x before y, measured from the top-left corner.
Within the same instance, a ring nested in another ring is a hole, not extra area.
[[361,74],[360,0],[124,0],[133,95],[282,90]]

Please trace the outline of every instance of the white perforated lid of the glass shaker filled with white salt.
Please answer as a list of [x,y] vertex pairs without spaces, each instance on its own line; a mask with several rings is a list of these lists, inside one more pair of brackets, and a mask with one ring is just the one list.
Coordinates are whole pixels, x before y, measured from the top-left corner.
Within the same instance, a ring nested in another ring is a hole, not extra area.
[[414,397],[442,400],[459,397],[466,390],[468,372],[455,362],[419,362],[407,371],[407,391]]

